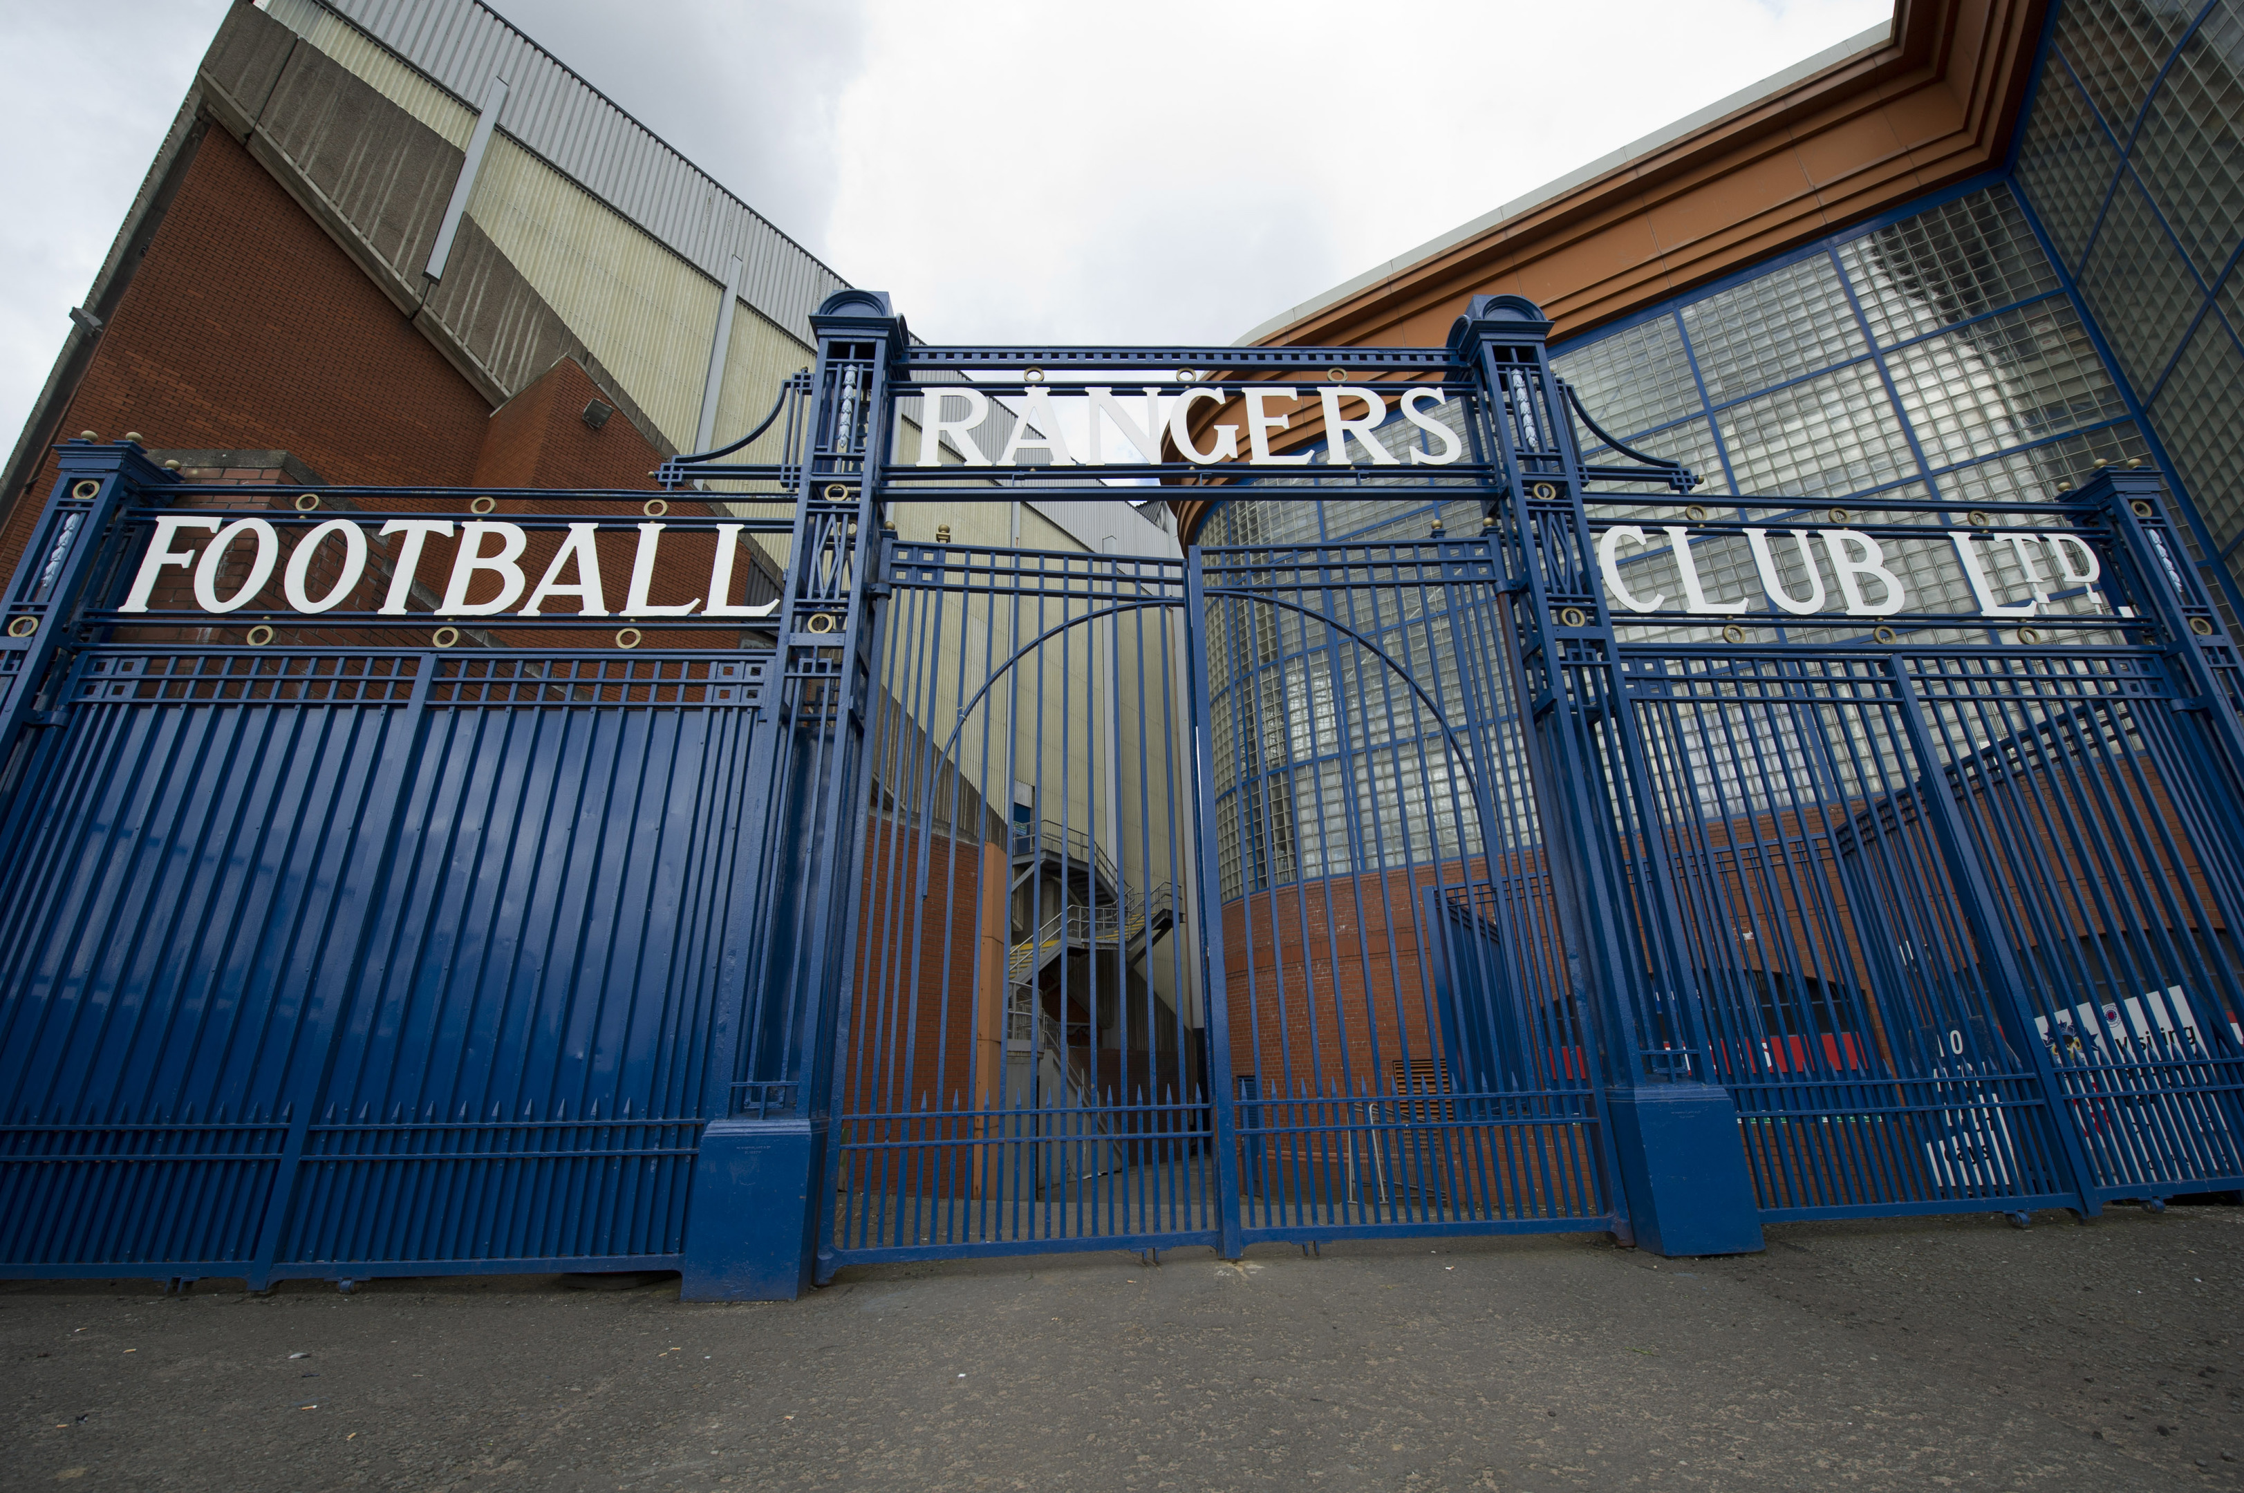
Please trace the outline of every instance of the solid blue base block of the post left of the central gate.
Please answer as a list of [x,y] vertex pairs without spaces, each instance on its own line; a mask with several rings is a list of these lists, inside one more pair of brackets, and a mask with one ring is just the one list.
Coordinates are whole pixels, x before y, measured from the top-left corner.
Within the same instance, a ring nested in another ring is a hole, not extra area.
[[702,1129],[678,1300],[792,1302],[810,1286],[819,1138],[808,1118]]

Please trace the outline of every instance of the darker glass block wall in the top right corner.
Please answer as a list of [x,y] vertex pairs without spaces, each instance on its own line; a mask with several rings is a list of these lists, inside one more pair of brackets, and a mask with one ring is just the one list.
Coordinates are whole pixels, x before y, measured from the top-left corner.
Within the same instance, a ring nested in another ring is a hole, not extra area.
[[2015,180],[2244,577],[2244,0],[2060,0]]

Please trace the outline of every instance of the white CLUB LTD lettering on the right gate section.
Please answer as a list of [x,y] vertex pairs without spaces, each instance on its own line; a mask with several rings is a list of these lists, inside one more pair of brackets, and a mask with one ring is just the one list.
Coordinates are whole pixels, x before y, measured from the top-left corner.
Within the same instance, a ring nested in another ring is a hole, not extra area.
[[[1739,590],[1737,595],[1714,595],[1708,590],[1708,581],[1701,575],[1703,548],[1699,555],[1692,552],[1692,530],[1683,523],[1667,523],[1661,528],[1665,534],[1665,555],[1674,564],[1679,595],[1665,590],[1652,590],[1645,595],[1640,586],[1645,584],[1643,570],[1638,577],[1629,575],[1629,552],[1622,546],[1636,550],[1634,559],[1643,566],[1643,550],[1658,552],[1663,546],[1652,539],[1638,523],[1620,523],[1604,530],[1598,537],[1598,573],[1604,577],[1604,590],[1613,602],[1634,615],[1652,613],[1679,613],[1679,615],[1732,615],[1732,613],[1766,613],[1773,604],[1777,611],[1793,617],[1811,617],[1818,613],[1833,611],[1833,604],[1849,617],[1892,617],[1910,608],[1910,586],[1894,570],[1898,557],[1889,557],[1885,548],[1863,530],[1851,528],[1815,528],[1815,530],[1784,530],[1779,539],[1771,539],[1766,528],[1744,530],[1746,548],[1753,555],[1755,579],[1759,581],[1759,595]],[[1714,530],[1701,534],[1699,543],[1710,539],[1735,541],[1739,530]],[[2060,590],[2080,590],[2094,586],[2103,575],[2103,566],[2096,559],[2096,550],[2089,548],[2078,534],[2040,534],[2031,530],[2022,532],[1988,532],[1988,530],[1928,530],[1925,539],[1948,539],[1957,568],[1964,581],[1970,586],[1972,597],[1979,604],[1981,617],[2031,617],[2035,608],[2047,606]],[[1784,568],[1779,566],[1782,548],[1791,550],[1793,590],[1786,586]],[[1997,561],[1990,559],[1990,550],[2004,550],[2008,555],[2008,566],[2017,573],[2017,581],[2004,581],[1997,586],[1995,570]],[[1824,584],[1829,575],[1831,584]],[[2024,597],[2013,599],[2008,590],[2022,586]],[[1919,608],[1928,611],[1928,608]]]

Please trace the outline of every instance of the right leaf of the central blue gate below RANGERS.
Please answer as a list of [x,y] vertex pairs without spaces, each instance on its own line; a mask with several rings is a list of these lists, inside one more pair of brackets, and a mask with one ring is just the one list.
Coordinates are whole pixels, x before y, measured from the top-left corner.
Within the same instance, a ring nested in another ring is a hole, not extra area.
[[1488,539],[1198,550],[1239,1239],[1616,1228]]

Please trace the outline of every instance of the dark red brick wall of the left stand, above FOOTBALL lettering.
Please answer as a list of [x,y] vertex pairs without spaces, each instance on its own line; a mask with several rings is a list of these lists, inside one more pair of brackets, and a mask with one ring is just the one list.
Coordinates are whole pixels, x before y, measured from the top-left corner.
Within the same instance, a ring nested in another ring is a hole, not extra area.
[[[209,130],[61,436],[139,431],[148,447],[292,451],[330,483],[465,487],[487,415],[278,182]],[[52,483],[47,458],[11,494],[0,573]]]

